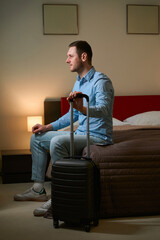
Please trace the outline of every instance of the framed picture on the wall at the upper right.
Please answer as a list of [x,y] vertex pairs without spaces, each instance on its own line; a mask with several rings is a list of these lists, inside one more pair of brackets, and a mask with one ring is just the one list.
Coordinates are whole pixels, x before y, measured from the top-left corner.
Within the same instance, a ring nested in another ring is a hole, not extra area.
[[128,4],[128,34],[159,34],[159,5]]

